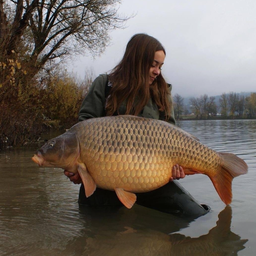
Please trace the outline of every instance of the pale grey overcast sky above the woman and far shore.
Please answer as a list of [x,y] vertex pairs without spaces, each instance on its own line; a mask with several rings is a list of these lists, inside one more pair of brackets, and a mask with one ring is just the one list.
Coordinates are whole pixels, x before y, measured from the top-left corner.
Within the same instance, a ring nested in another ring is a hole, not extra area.
[[120,61],[130,37],[147,33],[165,47],[163,75],[182,97],[256,91],[255,0],[123,0],[120,13],[137,15],[111,32],[104,54],[80,57],[73,70],[95,75]]

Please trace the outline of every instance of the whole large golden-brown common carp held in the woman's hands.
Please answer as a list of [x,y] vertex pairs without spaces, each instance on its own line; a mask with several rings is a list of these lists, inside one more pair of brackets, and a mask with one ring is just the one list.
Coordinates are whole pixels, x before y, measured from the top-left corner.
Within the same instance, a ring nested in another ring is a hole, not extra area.
[[79,172],[87,197],[96,187],[113,190],[128,208],[136,201],[134,193],[167,184],[176,164],[187,175],[206,174],[221,200],[230,204],[233,178],[248,169],[241,158],[216,152],[177,126],[130,115],[79,122],[49,140],[32,160]]

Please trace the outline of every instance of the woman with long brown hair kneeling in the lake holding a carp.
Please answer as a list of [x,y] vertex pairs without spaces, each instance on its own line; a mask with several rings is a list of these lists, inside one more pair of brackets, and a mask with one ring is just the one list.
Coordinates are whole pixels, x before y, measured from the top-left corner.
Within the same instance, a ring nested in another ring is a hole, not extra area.
[[[82,102],[79,121],[106,115],[129,114],[165,120],[175,125],[171,85],[165,82],[161,74],[164,61],[165,49],[157,39],[146,34],[134,35],[128,42],[120,63],[108,76],[100,75],[93,82]],[[64,171],[64,174],[75,184],[81,183],[78,173],[74,175]],[[170,181],[184,177],[182,167],[175,165]],[[169,182],[155,191],[137,193],[137,203],[159,209],[166,204],[169,207],[171,201],[174,210],[179,208],[178,210],[184,212],[184,209],[180,209],[181,207],[173,202],[173,195],[170,195],[170,191],[182,191],[182,187],[179,186]],[[83,185],[80,188],[78,202],[87,205],[121,204],[114,191],[99,188],[87,198]]]

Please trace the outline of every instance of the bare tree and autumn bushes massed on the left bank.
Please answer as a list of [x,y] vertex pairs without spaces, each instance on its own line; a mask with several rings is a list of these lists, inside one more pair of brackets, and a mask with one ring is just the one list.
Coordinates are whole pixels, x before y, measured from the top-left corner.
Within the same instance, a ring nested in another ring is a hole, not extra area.
[[[45,117],[59,121],[53,118],[64,113],[61,108],[70,109],[70,120],[76,120],[82,100],[76,87],[80,81],[59,79],[54,70],[67,58],[85,53],[96,56],[105,50],[109,32],[124,27],[130,18],[118,13],[120,3],[0,0],[0,148],[5,147],[6,138],[9,145],[36,138],[46,127]],[[46,104],[49,95],[56,97]],[[52,104],[60,97],[61,104]]]

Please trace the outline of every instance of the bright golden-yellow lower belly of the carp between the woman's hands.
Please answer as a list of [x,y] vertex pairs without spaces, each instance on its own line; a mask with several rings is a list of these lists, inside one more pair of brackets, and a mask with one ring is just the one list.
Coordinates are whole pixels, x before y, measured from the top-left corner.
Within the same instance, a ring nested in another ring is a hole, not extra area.
[[123,188],[129,192],[146,192],[162,187],[169,182],[172,164],[158,162],[156,157],[123,155],[100,155],[99,159],[108,161],[93,161],[89,173],[97,187],[114,190]]

